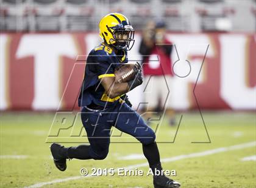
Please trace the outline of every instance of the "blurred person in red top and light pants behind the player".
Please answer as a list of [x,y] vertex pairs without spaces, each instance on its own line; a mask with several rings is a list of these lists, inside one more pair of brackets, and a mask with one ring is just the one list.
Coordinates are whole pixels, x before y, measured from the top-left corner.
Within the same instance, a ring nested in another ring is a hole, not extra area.
[[[151,112],[163,113],[168,117],[169,125],[175,124],[174,110],[171,109],[169,91],[171,88],[171,52],[172,42],[166,36],[166,25],[163,21],[149,21],[143,30],[140,54],[143,56],[144,101],[146,119]],[[154,89],[153,89],[154,88]],[[148,121],[148,123],[150,123]]]

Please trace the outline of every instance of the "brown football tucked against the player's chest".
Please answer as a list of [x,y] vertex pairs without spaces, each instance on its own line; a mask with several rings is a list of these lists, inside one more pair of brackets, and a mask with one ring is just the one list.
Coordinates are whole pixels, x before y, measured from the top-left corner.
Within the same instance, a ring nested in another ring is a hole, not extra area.
[[115,81],[116,82],[129,82],[130,80],[134,79],[135,71],[133,67],[135,64],[124,64],[119,66],[115,70]]

